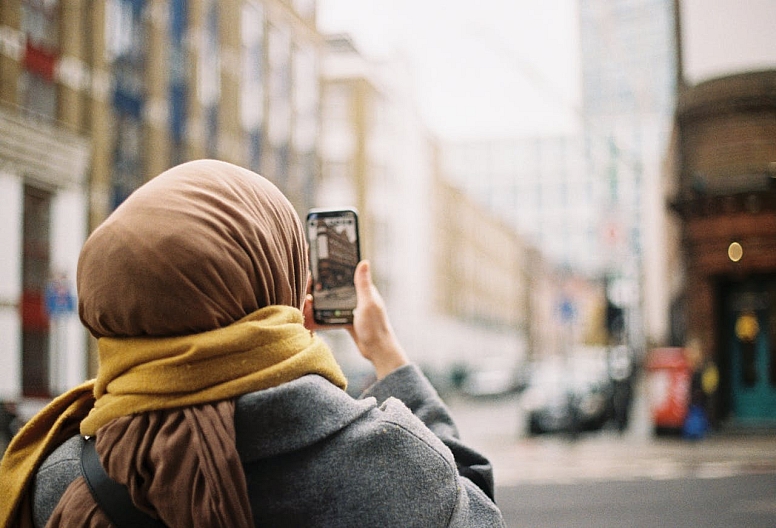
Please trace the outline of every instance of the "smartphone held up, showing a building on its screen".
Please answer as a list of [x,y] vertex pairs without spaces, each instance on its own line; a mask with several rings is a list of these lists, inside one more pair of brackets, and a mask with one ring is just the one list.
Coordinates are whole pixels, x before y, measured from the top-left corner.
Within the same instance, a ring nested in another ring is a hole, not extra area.
[[353,208],[311,209],[307,238],[315,322],[351,324],[356,308],[353,275],[361,260],[358,213]]

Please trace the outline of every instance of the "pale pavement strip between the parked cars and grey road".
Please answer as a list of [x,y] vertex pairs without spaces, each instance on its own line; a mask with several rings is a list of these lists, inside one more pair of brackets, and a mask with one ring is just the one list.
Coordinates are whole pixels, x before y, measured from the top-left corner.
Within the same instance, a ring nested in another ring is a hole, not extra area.
[[622,435],[605,429],[576,440],[527,437],[517,396],[455,396],[448,404],[463,440],[493,463],[497,486],[776,473],[776,434],[712,433],[698,441],[655,437],[643,397],[634,401]]

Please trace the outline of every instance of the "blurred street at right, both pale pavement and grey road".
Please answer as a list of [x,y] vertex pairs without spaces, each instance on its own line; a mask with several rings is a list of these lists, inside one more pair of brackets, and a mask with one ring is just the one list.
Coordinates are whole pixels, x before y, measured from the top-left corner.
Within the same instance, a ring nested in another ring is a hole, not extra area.
[[653,434],[643,384],[628,429],[528,436],[519,395],[448,403],[461,436],[495,468],[507,526],[776,526],[776,434]]

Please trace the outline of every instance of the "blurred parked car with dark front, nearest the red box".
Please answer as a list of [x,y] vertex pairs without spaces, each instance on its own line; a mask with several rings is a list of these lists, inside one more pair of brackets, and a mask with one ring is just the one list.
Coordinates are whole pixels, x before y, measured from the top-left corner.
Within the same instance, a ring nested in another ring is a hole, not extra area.
[[530,435],[600,429],[612,414],[606,363],[598,358],[537,363],[520,402]]

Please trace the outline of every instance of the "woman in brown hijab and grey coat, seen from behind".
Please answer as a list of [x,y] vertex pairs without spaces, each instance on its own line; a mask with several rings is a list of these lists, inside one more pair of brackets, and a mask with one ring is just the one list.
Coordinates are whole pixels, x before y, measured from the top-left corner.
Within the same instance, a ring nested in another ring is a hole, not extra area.
[[167,526],[502,526],[489,463],[408,361],[367,262],[355,281],[349,330],[378,378],[358,400],[311,331],[303,226],[274,185],[199,160],[142,186],[78,263],[97,378],[9,446],[0,520],[110,525],[77,427]]

